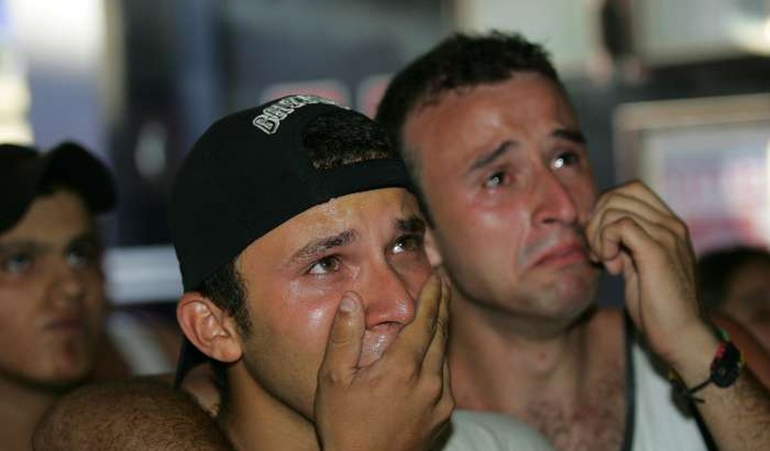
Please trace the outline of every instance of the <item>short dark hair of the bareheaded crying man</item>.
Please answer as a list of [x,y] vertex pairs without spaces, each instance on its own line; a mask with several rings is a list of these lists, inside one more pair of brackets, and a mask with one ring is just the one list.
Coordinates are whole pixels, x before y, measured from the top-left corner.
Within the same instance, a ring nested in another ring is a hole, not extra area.
[[[437,102],[445,92],[503,82],[515,72],[543,75],[563,89],[550,55],[541,45],[527,41],[520,34],[503,32],[451,35],[393,77],[377,107],[376,119],[406,162],[412,181],[420,191],[423,209],[417,161],[410,149],[404,149],[401,138],[407,116],[415,109]],[[425,213],[427,215],[427,210]]]

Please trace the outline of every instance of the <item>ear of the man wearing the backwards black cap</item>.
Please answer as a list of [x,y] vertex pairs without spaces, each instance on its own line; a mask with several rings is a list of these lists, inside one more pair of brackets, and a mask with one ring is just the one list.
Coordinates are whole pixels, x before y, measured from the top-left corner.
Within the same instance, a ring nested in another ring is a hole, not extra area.
[[199,292],[182,295],[176,320],[187,339],[206,356],[226,363],[243,356],[233,318]]

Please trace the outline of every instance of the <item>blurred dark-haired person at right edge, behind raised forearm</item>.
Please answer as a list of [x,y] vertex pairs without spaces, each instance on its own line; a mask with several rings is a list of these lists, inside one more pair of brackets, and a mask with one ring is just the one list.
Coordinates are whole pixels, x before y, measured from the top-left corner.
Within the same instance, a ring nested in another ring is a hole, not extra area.
[[770,351],[770,252],[760,247],[717,249],[698,259],[705,305],[740,322]]

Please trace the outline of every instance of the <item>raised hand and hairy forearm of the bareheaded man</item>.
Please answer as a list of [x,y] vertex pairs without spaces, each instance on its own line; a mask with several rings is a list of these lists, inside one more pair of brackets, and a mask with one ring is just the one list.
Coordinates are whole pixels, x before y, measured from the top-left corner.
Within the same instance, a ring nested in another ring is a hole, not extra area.
[[[719,341],[698,299],[685,223],[650,189],[631,182],[601,196],[586,236],[592,258],[624,277],[628,313],[658,357],[685,386],[703,382]],[[697,396],[722,451],[765,449],[770,443],[770,396],[751,367],[731,386],[712,383]]]

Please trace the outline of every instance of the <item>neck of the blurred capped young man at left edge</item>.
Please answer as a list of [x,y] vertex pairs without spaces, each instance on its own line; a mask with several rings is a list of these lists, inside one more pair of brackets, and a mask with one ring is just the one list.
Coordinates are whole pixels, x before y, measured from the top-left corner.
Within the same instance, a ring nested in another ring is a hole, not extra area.
[[32,432],[45,410],[59,397],[0,376],[0,443],[3,449],[32,449]]

